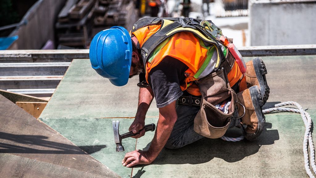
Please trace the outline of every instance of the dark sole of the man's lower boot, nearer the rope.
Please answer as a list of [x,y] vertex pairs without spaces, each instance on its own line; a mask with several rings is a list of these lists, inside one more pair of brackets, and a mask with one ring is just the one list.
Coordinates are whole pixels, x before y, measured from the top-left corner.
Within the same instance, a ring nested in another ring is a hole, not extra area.
[[258,119],[258,128],[256,132],[253,134],[249,134],[249,133],[245,134],[245,138],[249,141],[252,141],[258,138],[259,135],[262,133],[265,120],[264,120],[264,114],[262,112],[262,103],[263,103],[262,96],[261,96],[258,86],[250,87],[249,92],[250,92],[252,104],[255,108],[255,112]]

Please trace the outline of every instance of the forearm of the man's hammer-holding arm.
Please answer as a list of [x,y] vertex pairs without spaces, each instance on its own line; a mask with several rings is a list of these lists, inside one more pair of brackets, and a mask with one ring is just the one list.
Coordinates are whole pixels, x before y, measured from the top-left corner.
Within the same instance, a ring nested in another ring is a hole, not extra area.
[[145,119],[146,113],[153,99],[154,93],[149,86],[147,88],[139,88],[138,107],[135,118]]

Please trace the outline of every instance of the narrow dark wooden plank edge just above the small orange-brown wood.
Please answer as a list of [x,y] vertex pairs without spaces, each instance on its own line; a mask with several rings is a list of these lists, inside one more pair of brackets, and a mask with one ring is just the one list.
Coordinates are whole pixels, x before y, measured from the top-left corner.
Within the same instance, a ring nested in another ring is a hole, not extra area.
[[15,92],[9,92],[6,90],[0,89],[0,94],[3,95],[5,98],[9,99],[13,103],[16,102],[47,102],[48,100],[40,99],[37,97],[15,93]]

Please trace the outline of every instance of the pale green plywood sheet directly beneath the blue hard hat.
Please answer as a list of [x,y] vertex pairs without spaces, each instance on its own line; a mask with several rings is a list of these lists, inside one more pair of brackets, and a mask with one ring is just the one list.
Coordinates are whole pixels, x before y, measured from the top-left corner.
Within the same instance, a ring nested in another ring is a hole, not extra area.
[[[92,69],[90,60],[73,60],[40,118],[133,117],[137,111],[138,77],[114,86]],[[158,116],[153,102],[147,114]]]

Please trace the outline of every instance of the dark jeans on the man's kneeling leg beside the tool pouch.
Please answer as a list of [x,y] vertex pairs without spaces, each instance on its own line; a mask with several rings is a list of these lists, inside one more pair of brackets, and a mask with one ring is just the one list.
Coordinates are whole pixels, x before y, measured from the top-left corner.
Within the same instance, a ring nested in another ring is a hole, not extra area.
[[165,145],[169,149],[181,148],[187,144],[193,143],[201,138],[202,135],[196,133],[193,129],[194,118],[199,107],[190,107],[186,105],[180,105],[176,107],[178,119],[173,126],[173,130]]

